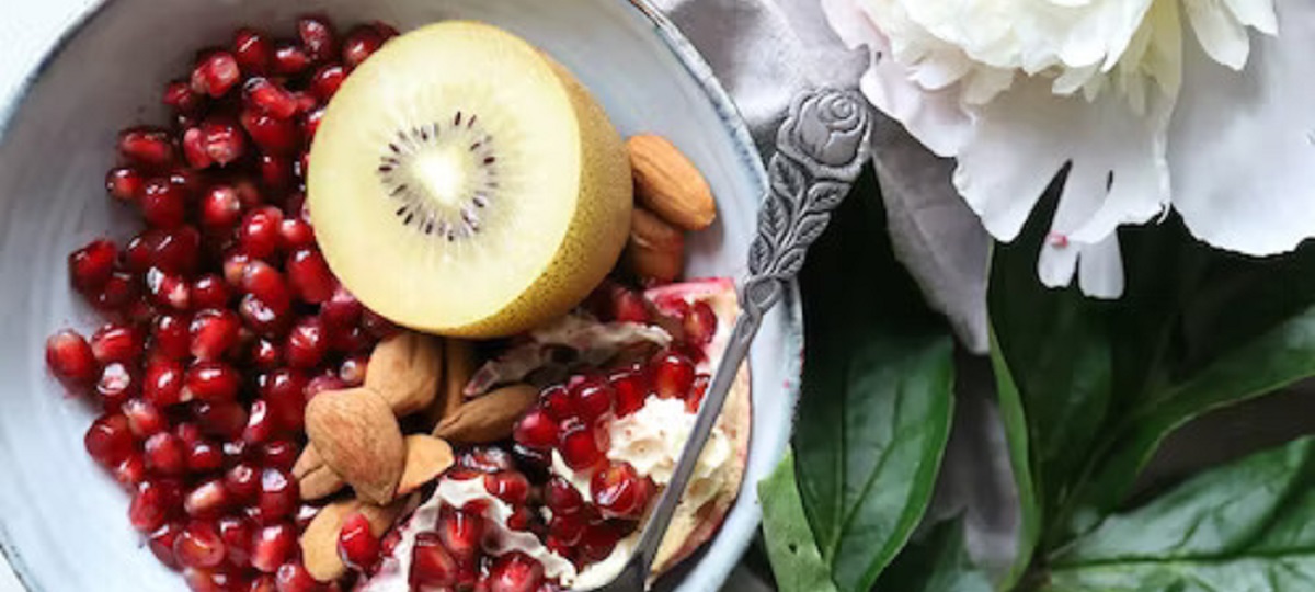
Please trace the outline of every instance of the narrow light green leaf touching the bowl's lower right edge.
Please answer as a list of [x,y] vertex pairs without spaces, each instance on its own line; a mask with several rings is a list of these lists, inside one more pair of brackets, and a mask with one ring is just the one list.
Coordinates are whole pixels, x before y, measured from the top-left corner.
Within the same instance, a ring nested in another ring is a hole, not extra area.
[[763,538],[781,592],[835,592],[831,568],[822,560],[803,501],[794,483],[794,454],[757,484],[763,503]]

